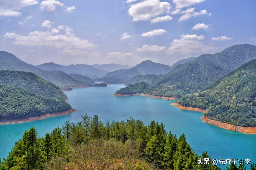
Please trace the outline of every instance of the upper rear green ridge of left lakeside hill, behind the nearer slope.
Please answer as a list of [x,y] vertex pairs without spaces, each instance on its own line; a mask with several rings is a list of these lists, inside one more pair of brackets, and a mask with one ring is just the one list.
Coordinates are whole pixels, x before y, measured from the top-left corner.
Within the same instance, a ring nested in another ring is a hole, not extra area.
[[0,70],[0,84],[23,87],[45,97],[67,97],[56,85],[31,72]]

